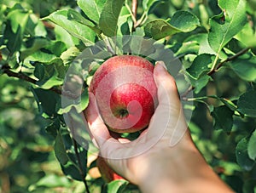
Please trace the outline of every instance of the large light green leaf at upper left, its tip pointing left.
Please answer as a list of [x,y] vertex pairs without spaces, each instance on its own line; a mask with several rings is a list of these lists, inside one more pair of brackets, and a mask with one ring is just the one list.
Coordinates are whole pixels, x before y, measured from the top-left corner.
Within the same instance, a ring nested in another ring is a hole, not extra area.
[[50,20],[56,25],[61,26],[73,37],[82,40],[85,46],[93,45],[96,37],[95,31],[89,26],[85,26],[83,21],[81,23],[81,21],[74,20],[74,15],[77,16],[78,14],[74,14],[73,10],[60,10],[49,14],[44,20]]

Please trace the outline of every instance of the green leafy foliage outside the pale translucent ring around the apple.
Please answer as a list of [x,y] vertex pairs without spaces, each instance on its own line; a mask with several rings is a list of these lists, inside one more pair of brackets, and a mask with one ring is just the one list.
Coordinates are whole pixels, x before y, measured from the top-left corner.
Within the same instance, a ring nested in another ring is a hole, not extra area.
[[64,120],[88,105],[86,88],[107,52],[90,50],[98,60],[73,69],[81,72],[70,78],[82,80],[73,87],[82,99],[61,106],[73,60],[100,40],[113,52],[109,37],[125,35],[157,40],[182,61],[191,86],[181,99],[194,103],[195,144],[236,192],[256,192],[255,1],[143,0],[131,7],[128,0],[1,1],[0,192],[138,191],[125,180],[105,184],[84,148],[89,142],[80,146]]

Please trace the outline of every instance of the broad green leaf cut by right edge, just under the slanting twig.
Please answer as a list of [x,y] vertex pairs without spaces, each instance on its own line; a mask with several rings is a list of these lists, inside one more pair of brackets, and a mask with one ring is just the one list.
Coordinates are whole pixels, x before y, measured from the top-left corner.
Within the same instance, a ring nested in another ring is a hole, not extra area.
[[256,82],[256,57],[248,60],[236,59],[229,63],[230,68],[247,82]]

